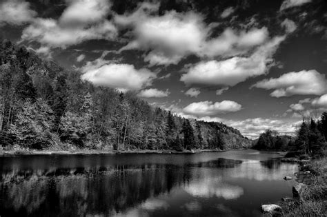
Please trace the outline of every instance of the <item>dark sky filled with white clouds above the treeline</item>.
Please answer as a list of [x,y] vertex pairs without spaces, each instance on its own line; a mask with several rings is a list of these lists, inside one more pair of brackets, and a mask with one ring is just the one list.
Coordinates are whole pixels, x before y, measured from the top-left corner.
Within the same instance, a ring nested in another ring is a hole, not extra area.
[[0,37],[248,138],[327,110],[324,0],[0,1]]

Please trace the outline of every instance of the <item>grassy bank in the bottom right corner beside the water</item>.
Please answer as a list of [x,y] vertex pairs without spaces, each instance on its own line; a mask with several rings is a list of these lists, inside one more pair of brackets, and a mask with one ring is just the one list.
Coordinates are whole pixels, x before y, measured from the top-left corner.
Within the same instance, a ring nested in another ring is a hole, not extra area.
[[320,158],[301,165],[300,170],[310,171],[308,188],[299,200],[282,203],[283,216],[327,216],[327,158]]

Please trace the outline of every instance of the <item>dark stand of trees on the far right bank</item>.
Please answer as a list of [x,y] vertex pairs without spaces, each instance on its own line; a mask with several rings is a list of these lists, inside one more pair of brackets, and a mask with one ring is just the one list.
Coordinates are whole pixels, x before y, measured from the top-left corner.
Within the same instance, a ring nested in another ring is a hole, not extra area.
[[311,156],[324,155],[327,141],[327,112],[323,112],[320,118],[304,118],[295,138],[291,136],[279,136],[273,130],[266,130],[259,136],[256,149],[279,149],[299,152]]

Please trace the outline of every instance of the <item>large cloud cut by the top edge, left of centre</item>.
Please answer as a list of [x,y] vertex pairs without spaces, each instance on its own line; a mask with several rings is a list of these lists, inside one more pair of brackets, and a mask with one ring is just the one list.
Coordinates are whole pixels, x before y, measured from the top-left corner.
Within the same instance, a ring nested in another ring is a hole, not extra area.
[[[23,41],[38,41],[50,48],[66,48],[91,39],[114,39],[117,28],[106,20],[107,1],[69,1],[58,20],[34,19],[23,30]],[[81,13],[83,12],[83,13]]]

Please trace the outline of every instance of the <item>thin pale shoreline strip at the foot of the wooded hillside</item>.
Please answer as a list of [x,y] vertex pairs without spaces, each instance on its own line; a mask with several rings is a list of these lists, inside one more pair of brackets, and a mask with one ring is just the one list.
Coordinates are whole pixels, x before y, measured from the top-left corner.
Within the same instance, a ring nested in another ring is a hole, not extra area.
[[0,156],[19,156],[19,155],[51,155],[51,154],[195,154],[201,152],[224,152],[221,149],[195,149],[177,152],[175,150],[150,150],[150,149],[134,149],[134,150],[101,150],[101,149],[79,149],[79,150],[0,150]]

